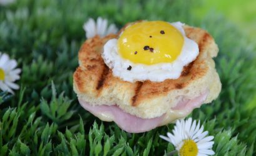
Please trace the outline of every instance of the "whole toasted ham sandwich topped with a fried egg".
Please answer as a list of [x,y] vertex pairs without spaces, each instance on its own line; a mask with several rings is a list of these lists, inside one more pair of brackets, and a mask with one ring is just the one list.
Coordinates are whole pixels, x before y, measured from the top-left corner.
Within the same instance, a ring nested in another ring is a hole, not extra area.
[[221,90],[207,31],[180,22],[137,21],[117,34],[87,39],[74,91],[80,104],[126,132],[146,132],[184,118]]

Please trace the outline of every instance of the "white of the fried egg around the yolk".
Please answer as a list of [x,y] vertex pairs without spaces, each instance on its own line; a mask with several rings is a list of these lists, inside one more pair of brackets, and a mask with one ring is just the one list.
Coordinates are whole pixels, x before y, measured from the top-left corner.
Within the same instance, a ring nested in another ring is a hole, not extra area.
[[[184,36],[182,51],[175,61],[154,65],[135,64],[119,55],[117,39],[111,39],[104,45],[102,58],[105,64],[112,69],[113,75],[129,82],[144,80],[162,82],[165,79],[178,79],[183,67],[196,59],[199,54],[199,46],[195,41],[185,36],[185,31],[182,27],[184,24],[181,22],[172,22],[170,24]],[[130,71],[127,70],[129,66],[132,66]]]

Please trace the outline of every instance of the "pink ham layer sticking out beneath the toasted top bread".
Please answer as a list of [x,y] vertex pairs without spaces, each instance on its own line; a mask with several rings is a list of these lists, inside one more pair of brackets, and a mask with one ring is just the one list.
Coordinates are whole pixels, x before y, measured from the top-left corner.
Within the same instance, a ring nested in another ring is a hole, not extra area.
[[[128,114],[124,110],[120,109],[117,105],[91,105],[88,102],[85,102],[79,99],[80,104],[84,109],[94,114],[96,117],[104,121],[114,121],[116,124],[126,132],[130,133],[140,133],[146,132],[159,127],[166,123],[166,120],[173,121],[175,119],[169,119],[174,117],[174,114],[179,114],[180,117],[185,117],[196,107],[200,107],[203,104],[209,92],[205,92],[199,97],[195,97],[191,100],[181,99],[180,102],[173,107],[170,112],[167,112],[160,117],[155,117],[152,119],[142,119],[136,117],[135,115]],[[178,115],[176,115],[177,117]],[[164,121],[165,120],[165,121]]]

